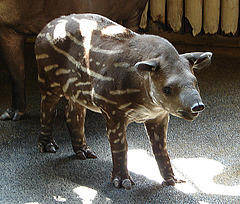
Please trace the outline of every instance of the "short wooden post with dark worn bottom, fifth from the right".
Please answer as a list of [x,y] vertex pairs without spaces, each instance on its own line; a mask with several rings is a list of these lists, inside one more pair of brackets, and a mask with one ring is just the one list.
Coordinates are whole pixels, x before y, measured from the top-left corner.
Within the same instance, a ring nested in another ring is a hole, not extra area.
[[165,24],[166,0],[150,0],[150,13],[153,21]]

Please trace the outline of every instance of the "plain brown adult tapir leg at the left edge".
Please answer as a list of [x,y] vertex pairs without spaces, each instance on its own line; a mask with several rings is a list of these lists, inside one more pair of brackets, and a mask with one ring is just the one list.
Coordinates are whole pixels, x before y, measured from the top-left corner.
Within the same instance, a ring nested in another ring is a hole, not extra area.
[[0,116],[1,120],[19,120],[25,110],[24,41],[24,36],[11,28],[0,27],[0,46],[12,84],[12,106]]

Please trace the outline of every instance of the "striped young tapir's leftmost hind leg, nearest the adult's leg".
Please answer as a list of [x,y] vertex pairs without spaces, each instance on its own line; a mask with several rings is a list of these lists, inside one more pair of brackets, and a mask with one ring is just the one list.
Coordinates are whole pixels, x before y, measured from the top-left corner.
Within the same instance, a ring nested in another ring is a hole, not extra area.
[[60,97],[48,92],[41,93],[41,133],[38,140],[40,152],[55,153],[58,149],[56,142],[52,137],[53,120],[56,113],[56,106]]

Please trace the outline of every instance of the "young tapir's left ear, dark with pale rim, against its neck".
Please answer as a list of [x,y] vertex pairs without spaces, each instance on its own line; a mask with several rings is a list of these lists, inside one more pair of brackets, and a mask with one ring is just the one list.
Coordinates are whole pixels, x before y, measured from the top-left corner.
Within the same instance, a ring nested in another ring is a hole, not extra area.
[[141,75],[143,75],[143,72],[155,71],[158,67],[159,62],[155,59],[141,61],[135,64],[135,68]]

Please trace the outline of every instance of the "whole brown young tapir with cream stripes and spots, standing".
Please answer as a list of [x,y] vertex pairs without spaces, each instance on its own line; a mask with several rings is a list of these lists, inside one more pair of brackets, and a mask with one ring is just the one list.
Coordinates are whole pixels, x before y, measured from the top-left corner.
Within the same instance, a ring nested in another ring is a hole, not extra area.
[[193,69],[210,64],[212,53],[179,55],[167,40],[140,35],[95,14],[51,21],[35,45],[41,89],[41,152],[56,152],[52,123],[56,104],[68,100],[66,122],[73,150],[95,158],[84,135],[86,108],[102,113],[111,144],[115,187],[130,189],[126,128],[144,123],[166,184],[178,180],[167,152],[169,113],[195,119],[204,109]]

